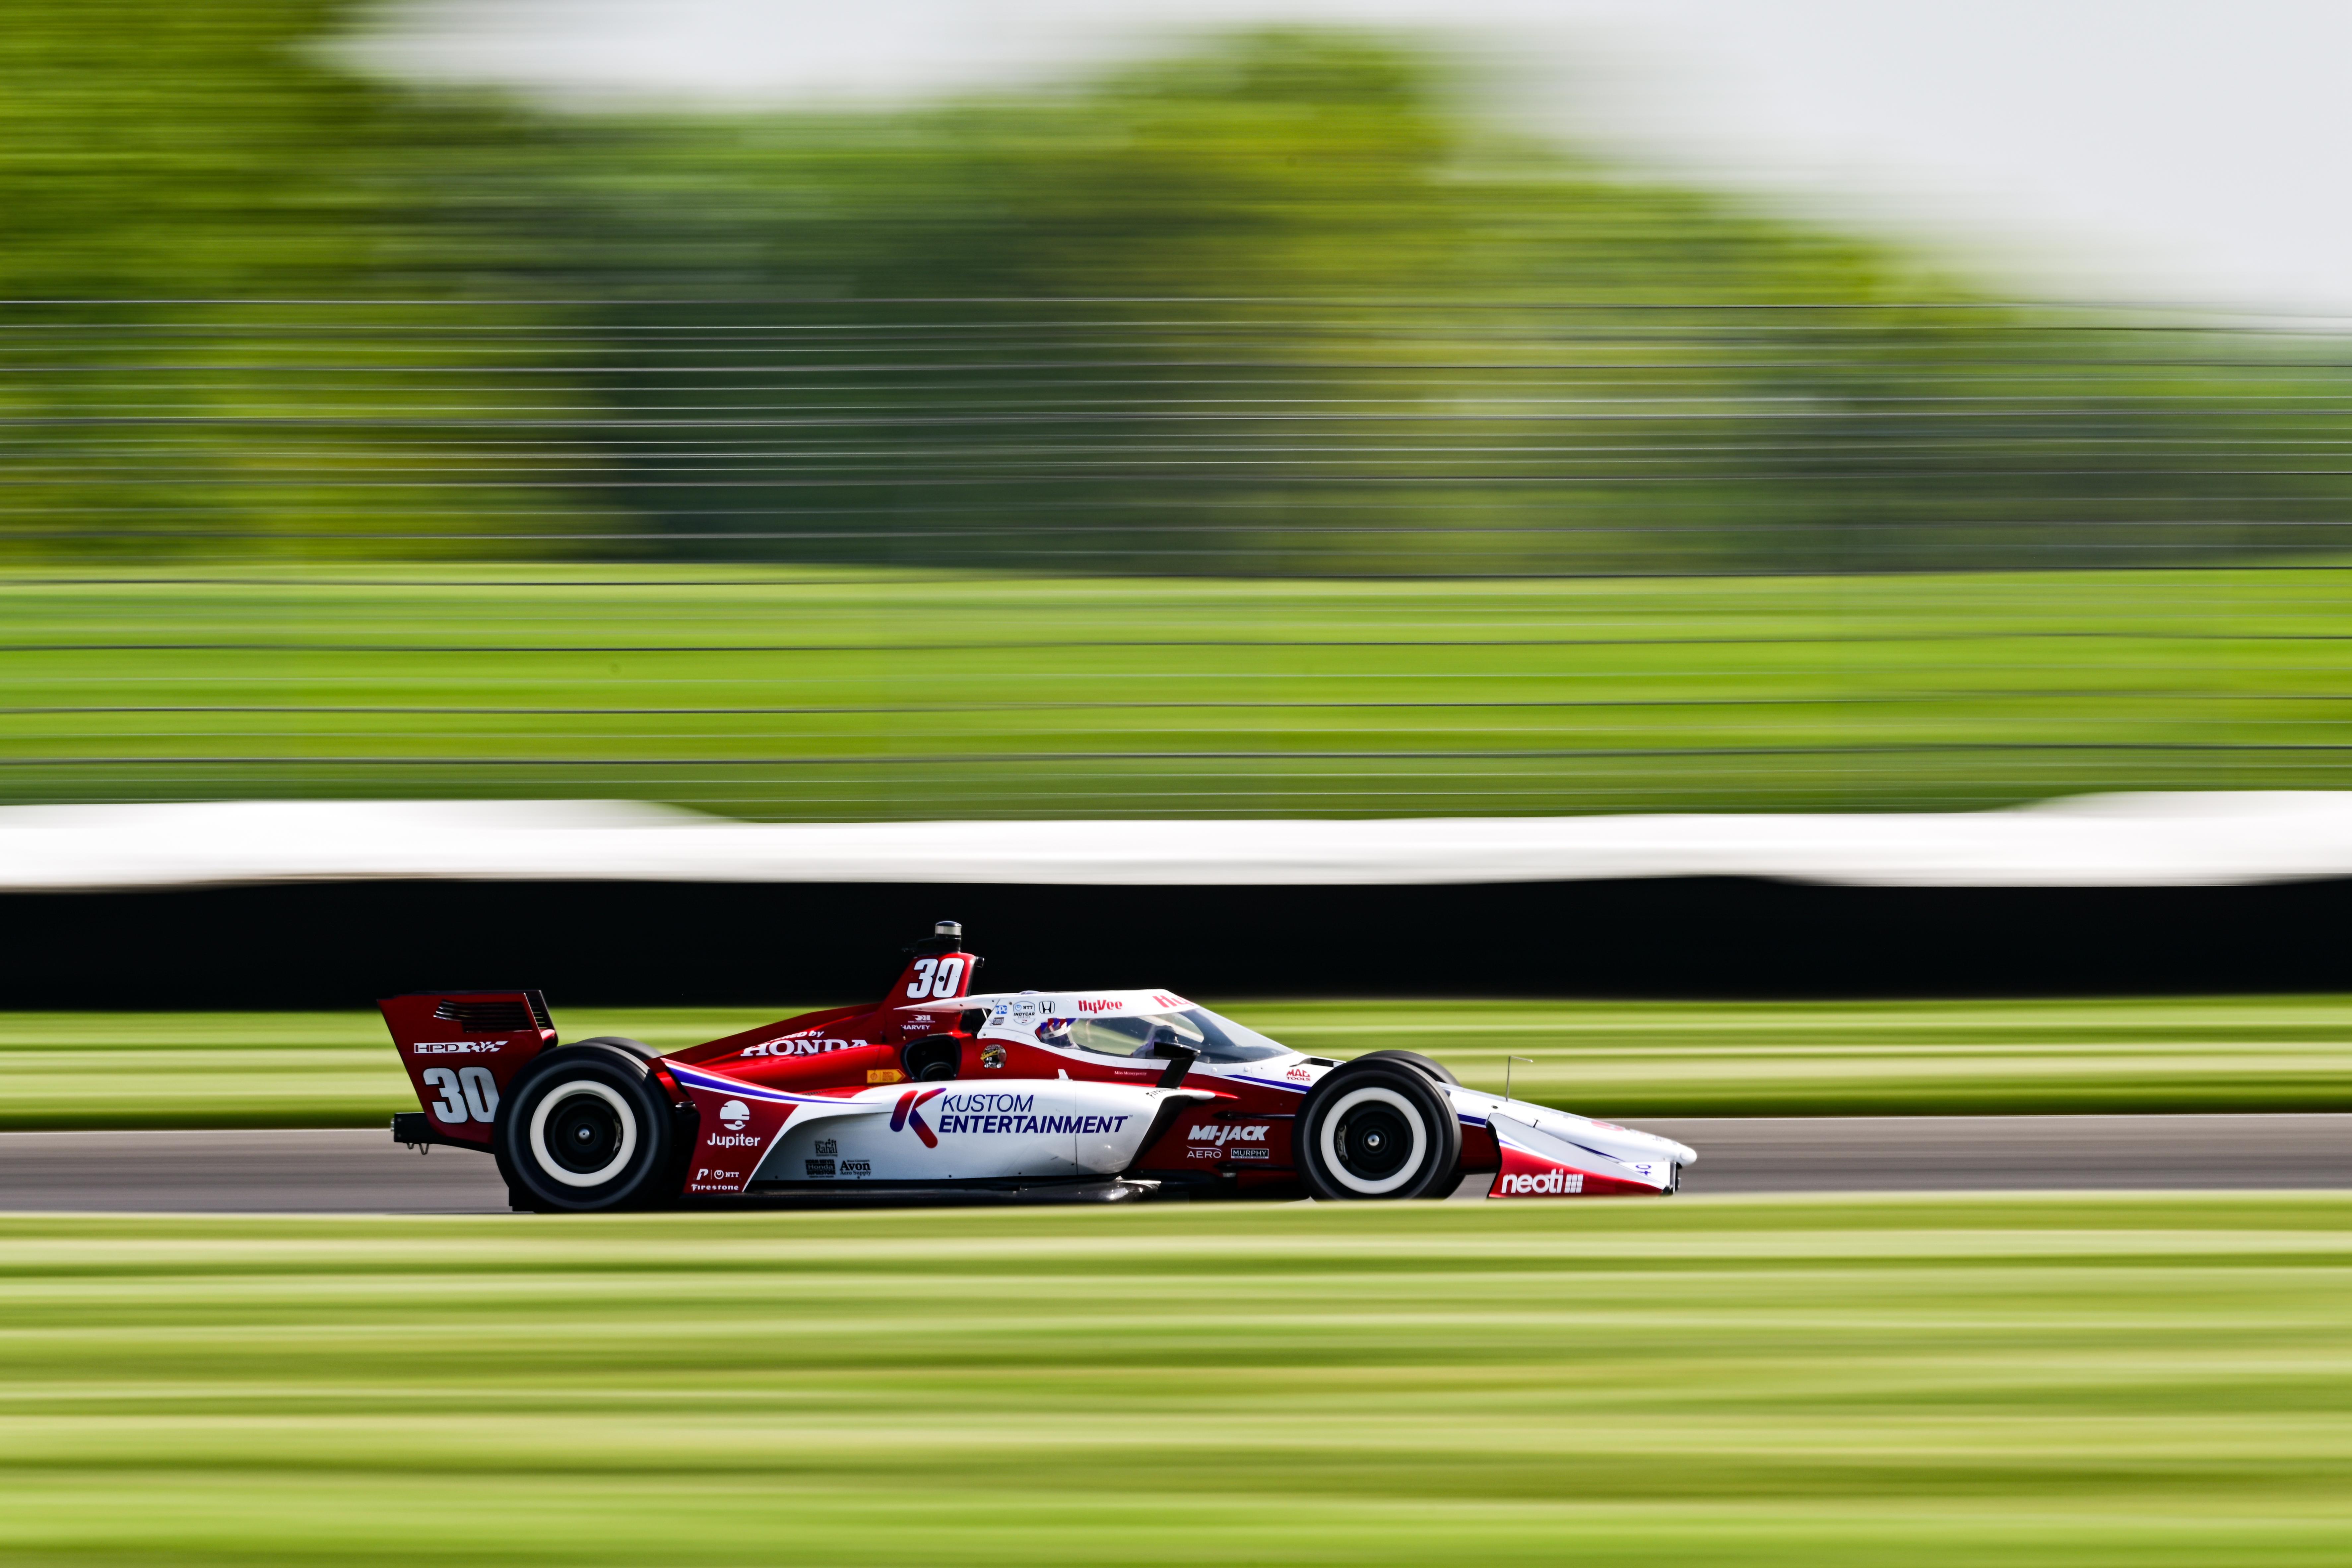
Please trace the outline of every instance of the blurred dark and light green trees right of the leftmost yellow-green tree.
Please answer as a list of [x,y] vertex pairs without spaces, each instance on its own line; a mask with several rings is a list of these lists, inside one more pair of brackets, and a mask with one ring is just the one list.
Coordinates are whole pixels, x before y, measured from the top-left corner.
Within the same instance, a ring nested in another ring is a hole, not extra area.
[[2340,548],[2321,355],[1994,306],[1498,132],[1442,59],[1258,33],[903,115],[574,122],[689,552],[1185,571]]

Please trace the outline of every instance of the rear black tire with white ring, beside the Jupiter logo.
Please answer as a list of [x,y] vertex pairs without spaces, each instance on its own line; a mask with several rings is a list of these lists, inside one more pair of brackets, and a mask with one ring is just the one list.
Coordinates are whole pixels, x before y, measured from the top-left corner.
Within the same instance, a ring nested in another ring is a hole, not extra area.
[[557,1046],[506,1086],[489,1150],[529,1208],[595,1213],[677,1197],[663,1180],[677,1175],[670,1100],[633,1044]]

